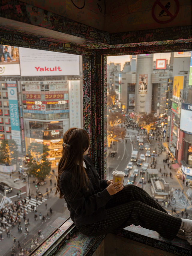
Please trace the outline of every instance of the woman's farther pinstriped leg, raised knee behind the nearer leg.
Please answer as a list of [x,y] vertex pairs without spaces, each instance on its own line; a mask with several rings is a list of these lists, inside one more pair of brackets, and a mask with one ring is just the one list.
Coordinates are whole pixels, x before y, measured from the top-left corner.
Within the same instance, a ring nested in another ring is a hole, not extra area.
[[106,208],[108,209],[132,201],[140,201],[160,210],[161,212],[167,213],[167,211],[145,190],[132,184],[125,185],[121,191],[113,195],[113,198],[106,204]]

